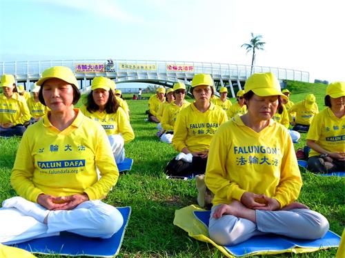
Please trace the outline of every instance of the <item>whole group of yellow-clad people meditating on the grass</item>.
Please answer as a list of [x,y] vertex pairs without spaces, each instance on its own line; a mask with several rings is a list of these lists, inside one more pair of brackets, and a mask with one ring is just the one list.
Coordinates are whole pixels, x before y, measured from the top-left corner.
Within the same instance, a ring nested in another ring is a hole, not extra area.
[[[9,75],[1,77],[1,128],[28,119],[19,111],[28,106],[11,91],[11,80]],[[115,95],[115,82],[93,79],[80,109],[75,108],[79,85],[69,68],[48,68],[36,85],[37,97],[48,111],[23,133],[10,177],[19,196],[3,201],[0,243],[58,235],[63,230],[109,238],[121,228],[123,218],[101,199],[117,183],[116,163],[124,159],[124,143],[135,137],[130,114]],[[323,237],[329,228],[327,219],[296,201],[302,177],[293,141],[285,120],[273,119],[279,117],[277,110],[284,116],[290,101],[275,75],[250,76],[233,105],[226,99],[226,88],[220,91],[221,97],[214,98],[210,75],[195,75],[190,88],[193,103],[186,101],[186,85],[179,82],[168,92],[158,88],[149,112],[150,121],[161,123],[159,137],[179,152],[165,172],[203,175],[213,192],[210,238],[234,245],[266,233]],[[315,110],[311,102],[315,98],[304,101],[308,112]],[[344,82],[327,87],[325,103],[327,108],[315,115],[308,128],[310,163],[318,172],[344,171]],[[305,125],[297,118],[302,108],[294,106],[290,112],[295,112],[295,126]],[[11,108],[17,110],[17,121],[8,119]],[[308,114],[303,114],[306,119]]]

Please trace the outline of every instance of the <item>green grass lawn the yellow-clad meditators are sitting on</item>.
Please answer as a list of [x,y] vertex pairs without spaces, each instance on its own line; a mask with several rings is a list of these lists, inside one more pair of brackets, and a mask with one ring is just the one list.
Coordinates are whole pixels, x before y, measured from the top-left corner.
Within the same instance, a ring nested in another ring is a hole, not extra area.
[[[322,110],[325,86],[295,90],[291,99],[300,101],[309,92],[315,94]],[[235,102],[235,99],[231,101]],[[212,245],[188,237],[184,230],[172,224],[175,210],[197,203],[195,180],[165,179],[166,163],[177,152],[155,136],[156,124],[144,121],[147,101],[128,99],[127,102],[135,140],[126,145],[126,157],[134,159],[134,163],[130,172],[121,175],[117,186],[105,200],[114,206],[132,207],[119,257],[224,257]],[[295,148],[304,146],[305,138],[306,135],[302,135]],[[0,201],[16,195],[10,187],[10,171],[19,141],[19,138],[0,139]],[[345,179],[319,177],[306,171],[302,171],[302,177],[304,186],[299,201],[325,215],[331,230],[341,235],[345,222]],[[336,248],[331,248],[308,254],[287,253],[269,257],[334,257],[335,253]]]

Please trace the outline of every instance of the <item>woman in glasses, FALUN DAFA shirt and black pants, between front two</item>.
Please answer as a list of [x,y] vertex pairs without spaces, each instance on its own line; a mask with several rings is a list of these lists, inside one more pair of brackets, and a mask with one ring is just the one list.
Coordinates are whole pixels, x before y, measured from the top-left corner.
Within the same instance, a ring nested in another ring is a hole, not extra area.
[[179,112],[174,126],[172,145],[180,153],[166,166],[166,174],[175,177],[205,173],[210,141],[228,120],[224,110],[210,103],[214,94],[210,75],[195,75],[191,93],[194,103]]

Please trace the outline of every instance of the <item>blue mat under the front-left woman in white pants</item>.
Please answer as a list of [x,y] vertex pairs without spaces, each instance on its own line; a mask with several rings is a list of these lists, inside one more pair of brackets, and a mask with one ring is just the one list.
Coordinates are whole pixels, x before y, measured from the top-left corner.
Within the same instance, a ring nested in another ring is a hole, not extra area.
[[82,237],[63,231],[59,236],[32,239],[11,246],[28,250],[32,253],[45,255],[58,254],[70,256],[115,257],[119,254],[131,212],[129,206],[117,209],[121,212],[122,217],[124,217],[124,225],[122,225],[121,229],[109,239]]

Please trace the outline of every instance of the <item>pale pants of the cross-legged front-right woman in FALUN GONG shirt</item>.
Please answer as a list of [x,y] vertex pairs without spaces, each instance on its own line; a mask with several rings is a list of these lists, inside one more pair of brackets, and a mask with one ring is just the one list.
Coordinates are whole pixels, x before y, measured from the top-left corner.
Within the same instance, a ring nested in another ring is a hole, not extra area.
[[233,215],[223,215],[215,219],[213,213],[219,205],[211,210],[208,232],[210,239],[222,246],[233,246],[250,237],[268,233],[298,239],[318,239],[323,237],[329,228],[323,215],[307,209],[256,210],[256,224]]

